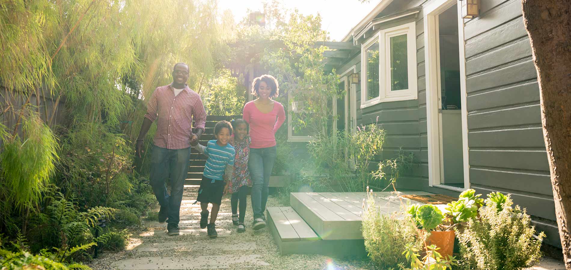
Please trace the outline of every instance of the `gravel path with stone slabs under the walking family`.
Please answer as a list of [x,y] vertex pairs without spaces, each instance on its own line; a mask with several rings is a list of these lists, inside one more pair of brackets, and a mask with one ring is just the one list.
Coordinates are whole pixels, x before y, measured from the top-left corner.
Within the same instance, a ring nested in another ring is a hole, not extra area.
[[[232,224],[230,196],[222,200],[216,221],[219,237],[209,239],[200,229],[196,186],[185,186],[180,210],[180,229],[184,234],[167,236],[166,223],[147,221],[132,231],[127,250],[103,253],[90,263],[103,269],[371,269],[368,261],[332,258],[320,255],[281,256],[268,228],[251,230],[250,198],[246,212],[246,232],[236,232]],[[268,199],[268,207],[280,206],[276,198]],[[158,211],[158,207],[155,207]],[[183,231],[184,230],[184,231]],[[182,266],[181,266],[182,265]]]

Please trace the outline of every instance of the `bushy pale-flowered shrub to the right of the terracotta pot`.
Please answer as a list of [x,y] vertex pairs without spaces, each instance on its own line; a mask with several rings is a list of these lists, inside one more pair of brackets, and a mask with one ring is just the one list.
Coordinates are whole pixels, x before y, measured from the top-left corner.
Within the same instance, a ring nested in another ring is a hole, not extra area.
[[[496,197],[497,194],[496,194]],[[457,230],[461,267],[476,270],[517,270],[529,267],[540,258],[543,232],[534,238],[529,215],[512,207],[509,197],[498,211],[492,200],[480,208],[478,218],[469,219],[464,230]]]

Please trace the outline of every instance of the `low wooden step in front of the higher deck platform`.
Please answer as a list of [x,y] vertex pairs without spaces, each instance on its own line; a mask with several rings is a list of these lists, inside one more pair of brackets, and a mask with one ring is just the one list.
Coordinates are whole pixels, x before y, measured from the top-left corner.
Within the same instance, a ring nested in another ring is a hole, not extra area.
[[323,240],[292,207],[268,207],[268,227],[282,255],[367,256],[363,240]]

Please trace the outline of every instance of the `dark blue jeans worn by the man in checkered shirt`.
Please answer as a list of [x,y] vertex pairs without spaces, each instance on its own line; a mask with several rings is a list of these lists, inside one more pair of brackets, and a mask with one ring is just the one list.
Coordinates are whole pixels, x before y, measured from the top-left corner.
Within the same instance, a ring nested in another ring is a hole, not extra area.
[[[160,207],[168,208],[168,223],[178,225],[180,202],[184,179],[190,166],[190,148],[166,149],[152,146],[151,173],[149,181]],[[168,195],[166,181],[171,178],[171,194]]]

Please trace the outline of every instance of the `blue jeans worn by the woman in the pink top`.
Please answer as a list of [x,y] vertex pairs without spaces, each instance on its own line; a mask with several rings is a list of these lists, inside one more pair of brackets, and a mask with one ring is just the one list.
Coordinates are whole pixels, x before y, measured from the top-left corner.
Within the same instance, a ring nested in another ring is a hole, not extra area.
[[270,174],[276,161],[276,146],[268,148],[250,148],[248,169],[252,178],[252,210],[254,219],[262,218],[268,201]]

